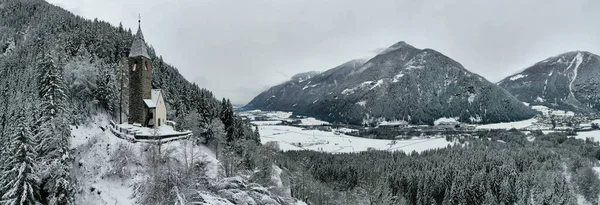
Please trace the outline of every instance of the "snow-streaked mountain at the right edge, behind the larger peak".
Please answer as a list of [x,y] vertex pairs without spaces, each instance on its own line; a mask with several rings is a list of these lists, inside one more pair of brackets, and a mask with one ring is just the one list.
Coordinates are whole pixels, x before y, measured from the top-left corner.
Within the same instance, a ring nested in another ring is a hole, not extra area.
[[579,112],[600,110],[600,57],[573,51],[547,58],[498,85],[517,99]]

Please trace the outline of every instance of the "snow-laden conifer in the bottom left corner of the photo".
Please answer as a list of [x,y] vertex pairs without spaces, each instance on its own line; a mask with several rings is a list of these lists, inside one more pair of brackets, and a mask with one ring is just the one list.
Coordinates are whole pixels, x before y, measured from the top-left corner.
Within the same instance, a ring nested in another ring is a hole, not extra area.
[[16,118],[18,127],[11,136],[10,152],[6,160],[6,171],[0,178],[3,191],[1,204],[36,205],[41,204],[40,180],[36,174],[37,153],[35,141],[25,119],[24,109]]

